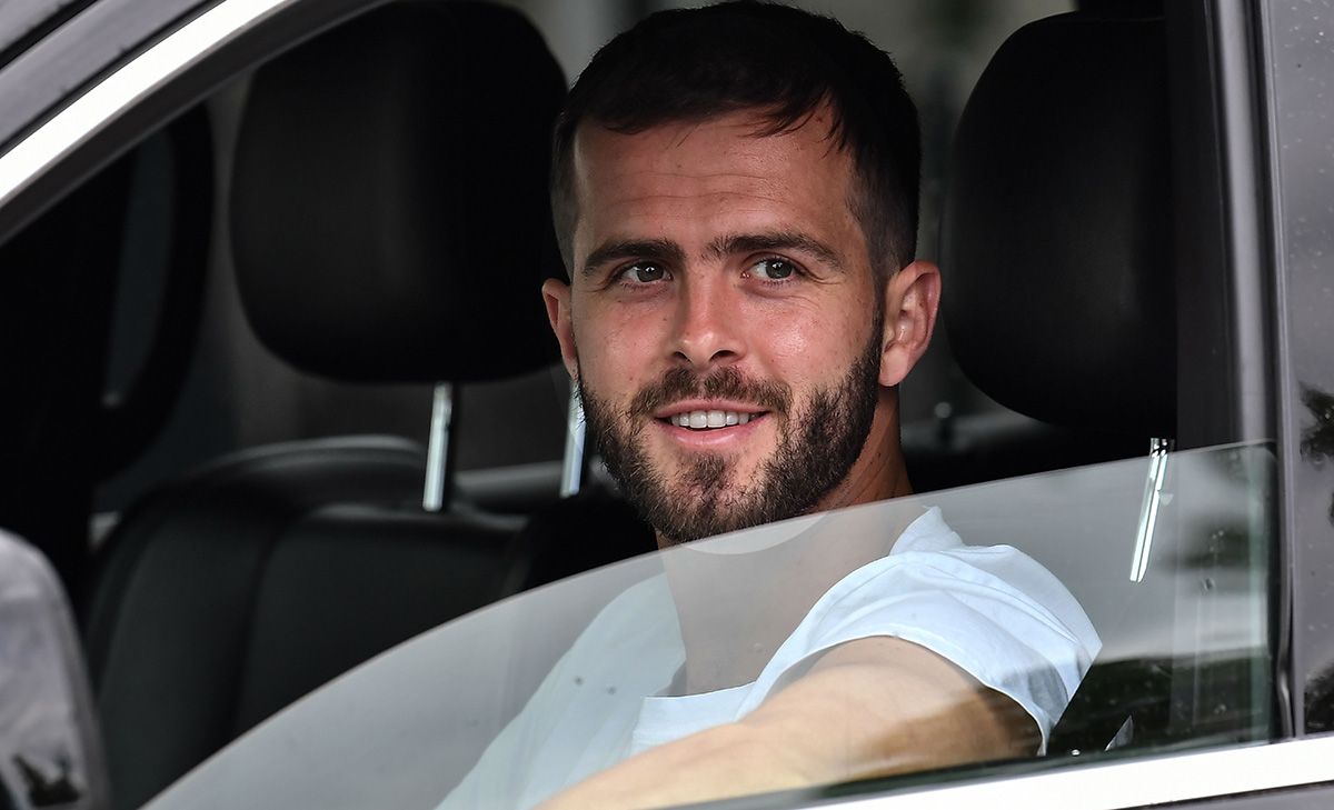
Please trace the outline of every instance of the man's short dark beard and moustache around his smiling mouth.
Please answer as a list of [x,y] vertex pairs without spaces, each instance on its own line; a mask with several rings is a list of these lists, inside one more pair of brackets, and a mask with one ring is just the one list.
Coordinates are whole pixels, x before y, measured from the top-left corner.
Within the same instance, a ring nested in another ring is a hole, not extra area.
[[[852,469],[875,416],[880,322],[843,378],[815,389],[799,413],[787,385],[748,380],[734,366],[708,374],[675,368],[639,390],[618,412],[575,378],[588,432],[620,493],[667,544],[675,545],[780,521],[814,509]],[[734,480],[731,460],[700,452],[675,476],[654,465],[643,432],[652,413],[690,398],[754,402],[778,421],[778,448],[747,481]]]

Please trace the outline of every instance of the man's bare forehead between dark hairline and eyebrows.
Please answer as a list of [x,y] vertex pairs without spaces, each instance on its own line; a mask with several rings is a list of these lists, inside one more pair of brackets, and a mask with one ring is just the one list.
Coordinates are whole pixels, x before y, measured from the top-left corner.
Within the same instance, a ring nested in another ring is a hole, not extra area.
[[632,135],[580,127],[574,148],[575,253],[610,237],[688,237],[668,233],[686,226],[846,225],[852,163],[831,136],[828,111],[816,109],[775,135],[763,133],[767,125],[746,111]]

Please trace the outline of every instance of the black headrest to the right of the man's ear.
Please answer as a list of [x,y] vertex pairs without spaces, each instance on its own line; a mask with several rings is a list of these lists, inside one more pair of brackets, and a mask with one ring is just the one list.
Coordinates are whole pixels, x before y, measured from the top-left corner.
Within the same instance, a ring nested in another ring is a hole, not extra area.
[[1019,29],[964,108],[942,218],[960,368],[1034,418],[1175,434],[1161,19]]

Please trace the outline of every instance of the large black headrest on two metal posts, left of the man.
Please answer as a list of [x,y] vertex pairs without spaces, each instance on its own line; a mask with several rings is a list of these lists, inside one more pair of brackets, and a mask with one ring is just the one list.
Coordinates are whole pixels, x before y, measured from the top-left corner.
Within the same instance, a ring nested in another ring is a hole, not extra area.
[[566,83],[518,12],[383,7],[264,65],[236,149],[232,245],[259,338],[367,382],[554,361],[547,173]]

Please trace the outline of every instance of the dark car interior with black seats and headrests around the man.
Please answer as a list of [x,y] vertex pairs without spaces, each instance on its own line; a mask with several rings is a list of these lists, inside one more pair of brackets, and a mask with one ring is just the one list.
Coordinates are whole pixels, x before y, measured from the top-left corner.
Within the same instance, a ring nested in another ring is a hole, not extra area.
[[[1162,9],[1078,7],[1006,41],[952,137],[942,317],[999,405],[904,425],[919,492],[1177,436]],[[25,381],[0,404],[20,442],[0,525],[75,602],[113,806],[418,633],[652,550],[591,454],[562,490],[568,388],[538,286],[560,272],[546,181],[568,79],[516,11],[382,5],[0,245],[25,269],[0,276],[4,368]],[[224,446],[224,426],[267,438],[265,410],[335,389],[350,405],[319,434]],[[404,429],[354,434],[351,412]],[[1095,666],[1051,751],[1103,749],[1130,717],[1161,738],[1170,697],[1161,670]]]

